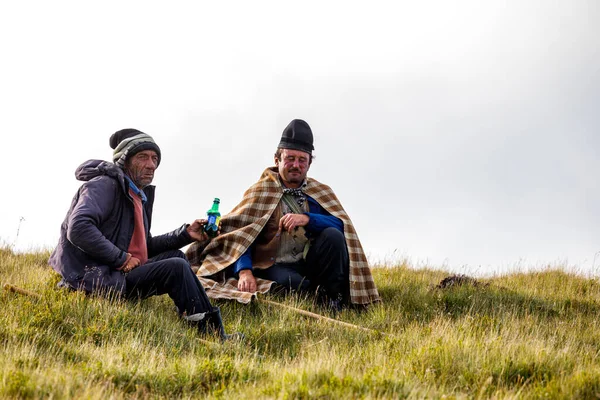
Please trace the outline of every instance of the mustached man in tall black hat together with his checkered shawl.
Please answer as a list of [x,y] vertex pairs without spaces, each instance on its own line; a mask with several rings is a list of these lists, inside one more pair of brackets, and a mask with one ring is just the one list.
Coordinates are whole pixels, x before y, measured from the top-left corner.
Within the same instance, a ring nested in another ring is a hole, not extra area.
[[[291,121],[275,166],[221,220],[224,234],[205,249],[188,249],[209,296],[248,302],[251,293],[275,282],[286,290],[316,291],[334,310],[379,299],[350,218],[329,186],[307,178],[313,150],[309,125]],[[218,272],[229,278],[226,285],[218,284]]]

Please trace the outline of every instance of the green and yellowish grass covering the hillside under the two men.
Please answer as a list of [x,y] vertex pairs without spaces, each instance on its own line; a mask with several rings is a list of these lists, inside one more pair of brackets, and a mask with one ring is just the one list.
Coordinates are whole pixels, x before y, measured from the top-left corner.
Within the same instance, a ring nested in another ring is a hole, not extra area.
[[383,303],[337,318],[385,334],[218,302],[246,340],[212,345],[166,296],[57,290],[48,256],[0,248],[0,282],[42,295],[0,291],[0,398],[600,397],[600,284],[556,269],[440,290],[443,271],[374,268]]

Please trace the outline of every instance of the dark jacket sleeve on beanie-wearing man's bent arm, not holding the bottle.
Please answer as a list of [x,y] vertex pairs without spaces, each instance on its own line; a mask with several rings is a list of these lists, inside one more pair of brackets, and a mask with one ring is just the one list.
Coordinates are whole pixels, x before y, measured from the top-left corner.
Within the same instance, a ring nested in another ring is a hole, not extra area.
[[115,246],[101,232],[114,207],[117,184],[113,179],[86,182],[80,189],[77,204],[68,219],[67,239],[92,258],[118,268],[127,253]]

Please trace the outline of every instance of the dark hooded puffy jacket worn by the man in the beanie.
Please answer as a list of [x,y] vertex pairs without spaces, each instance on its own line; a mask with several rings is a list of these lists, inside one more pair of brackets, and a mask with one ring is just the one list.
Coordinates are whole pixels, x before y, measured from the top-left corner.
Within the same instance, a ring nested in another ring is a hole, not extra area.
[[[79,188],[60,227],[58,246],[50,265],[74,289],[125,291],[125,275],[117,271],[127,259],[133,235],[133,200],[123,170],[113,163],[89,160],[75,177],[85,181]],[[148,257],[179,249],[192,239],[183,225],[161,236],[150,235],[154,186],[144,189],[144,228]]]

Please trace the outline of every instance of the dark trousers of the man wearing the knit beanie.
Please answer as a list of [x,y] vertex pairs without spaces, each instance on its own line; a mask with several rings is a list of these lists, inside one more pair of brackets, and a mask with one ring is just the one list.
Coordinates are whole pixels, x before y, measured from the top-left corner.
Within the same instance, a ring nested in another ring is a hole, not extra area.
[[179,313],[186,315],[212,311],[202,284],[180,250],[166,251],[152,257],[125,278],[126,296],[145,299],[168,294]]

